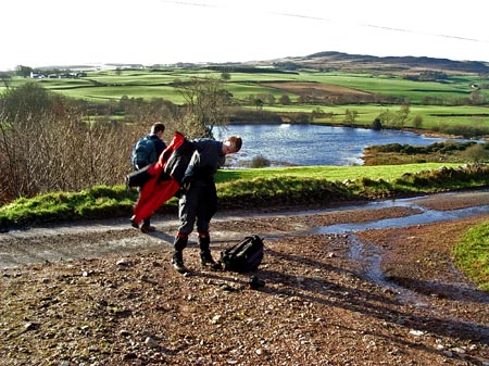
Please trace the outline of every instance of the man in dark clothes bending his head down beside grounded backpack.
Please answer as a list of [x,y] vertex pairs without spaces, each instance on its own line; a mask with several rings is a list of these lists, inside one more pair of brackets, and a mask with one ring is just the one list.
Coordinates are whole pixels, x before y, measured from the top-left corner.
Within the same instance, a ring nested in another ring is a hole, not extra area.
[[227,154],[238,152],[241,149],[242,141],[239,136],[231,136],[223,141],[197,139],[192,140],[192,143],[196,147],[196,152],[181,180],[183,194],[178,201],[180,226],[175,237],[171,261],[173,267],[181,274],[187,273],[183,252],[187,247],[188,237],[192,232],[196,222],[200,263],[203,267],[216,268],[217,266],[211,255],[211,238],[209,235],[211,218],[217,211],[214,175],[224,165]]

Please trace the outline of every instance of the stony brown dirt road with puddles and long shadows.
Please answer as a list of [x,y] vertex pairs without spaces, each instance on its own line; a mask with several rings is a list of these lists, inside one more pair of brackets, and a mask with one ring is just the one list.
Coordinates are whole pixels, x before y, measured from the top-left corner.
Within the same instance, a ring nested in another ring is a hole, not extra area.
[[[265,237],[254,274],[171,269],[175,217],[0,235],[5,365],[489,365],[489,294],[451,251],[489,192],[221,213],[214,254]],[[409,226],[406,226],[409,224]]]

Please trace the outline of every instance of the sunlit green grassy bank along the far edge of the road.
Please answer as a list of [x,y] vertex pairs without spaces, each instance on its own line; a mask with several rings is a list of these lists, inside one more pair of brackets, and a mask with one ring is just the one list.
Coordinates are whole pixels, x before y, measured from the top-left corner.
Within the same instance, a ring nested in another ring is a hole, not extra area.
[[[216,175],[222,210],[254,210],[439,192],[485,187],[486,165],[406,164],[225,169]],[[0,230],[43,223],[129,217],[135,189],[97,186],[80,192],[53,192],[17,199],[0,207]],[[160,211],[176,213],[176,199]]]

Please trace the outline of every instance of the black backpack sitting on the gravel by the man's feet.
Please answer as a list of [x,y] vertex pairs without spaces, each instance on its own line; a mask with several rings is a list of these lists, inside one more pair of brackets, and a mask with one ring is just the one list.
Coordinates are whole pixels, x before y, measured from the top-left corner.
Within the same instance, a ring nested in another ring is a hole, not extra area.
[[263,260],[263,239],[256,235],[246,237],[237,244],[221,252],[221,264],[225,270],[253,272]]

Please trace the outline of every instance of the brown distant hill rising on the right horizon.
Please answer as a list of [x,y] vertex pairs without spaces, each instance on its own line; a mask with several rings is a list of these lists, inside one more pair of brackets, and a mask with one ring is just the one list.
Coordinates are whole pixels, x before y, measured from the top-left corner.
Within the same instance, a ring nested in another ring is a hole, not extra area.
[[306,56],[290,56],[262,61],[258,64],[273,64],[287,70],[342,70],[376,71],[392,73],[419,72],[422,70],[443,71],[447,73],[489,74],[489,63],[480,61],[453,61],[448,59],[415,56],[373,56],[341,52],[318,52]]

